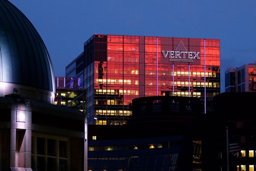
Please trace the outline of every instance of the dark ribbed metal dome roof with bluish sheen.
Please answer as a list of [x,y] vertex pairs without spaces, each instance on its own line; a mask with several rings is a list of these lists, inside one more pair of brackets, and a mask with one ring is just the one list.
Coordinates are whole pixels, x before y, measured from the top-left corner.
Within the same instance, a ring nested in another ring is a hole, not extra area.
[[43,40],[27,17],[8,0],[0,0],[0,82],[55,93],[52,62]]

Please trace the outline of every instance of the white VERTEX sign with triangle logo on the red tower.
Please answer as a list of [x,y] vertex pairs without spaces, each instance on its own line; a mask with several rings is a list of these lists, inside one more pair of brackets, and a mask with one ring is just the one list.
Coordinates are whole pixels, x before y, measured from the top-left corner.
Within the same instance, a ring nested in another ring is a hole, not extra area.
[[187,49],[182,41],[180,41],[175,51],[162,51],[162,53],[164,58],[170,58],[169,61],[194,62],[193,59],[200,59],[200,52],[187,52]]

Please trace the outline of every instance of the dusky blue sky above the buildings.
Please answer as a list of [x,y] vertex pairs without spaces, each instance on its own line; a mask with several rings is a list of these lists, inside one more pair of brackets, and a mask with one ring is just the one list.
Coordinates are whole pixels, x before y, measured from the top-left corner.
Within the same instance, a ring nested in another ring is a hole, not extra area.
[[224,72],[256,61],[256,0],[10,0],[35,26],[55,76],[94,33],[220,39]]

